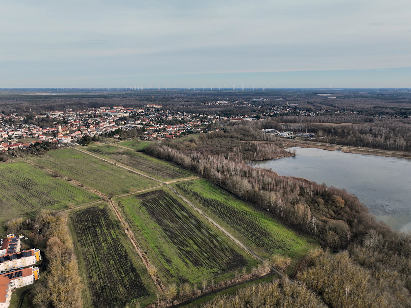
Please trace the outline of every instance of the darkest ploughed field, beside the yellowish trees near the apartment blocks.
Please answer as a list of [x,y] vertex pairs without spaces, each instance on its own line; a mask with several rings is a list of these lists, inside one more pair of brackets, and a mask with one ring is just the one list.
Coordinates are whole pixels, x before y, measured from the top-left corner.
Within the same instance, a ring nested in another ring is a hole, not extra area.
[[111,207],[100,203],[69,216],[85,289],[84,307],[153,302],[154,283]]

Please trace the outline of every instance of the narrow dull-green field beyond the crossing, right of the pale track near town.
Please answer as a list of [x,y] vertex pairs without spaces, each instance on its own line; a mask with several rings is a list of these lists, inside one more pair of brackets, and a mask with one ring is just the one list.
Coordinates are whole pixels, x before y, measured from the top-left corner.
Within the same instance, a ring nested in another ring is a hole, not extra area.
[[157,177],[163,181],[181,179],[196,176],[190,170],[184,169],[174,163],[163,161],[144,153],[125,149],[117,145],[102,145],[87,149],[97,156],[107,158],[127,165],[152,177]]

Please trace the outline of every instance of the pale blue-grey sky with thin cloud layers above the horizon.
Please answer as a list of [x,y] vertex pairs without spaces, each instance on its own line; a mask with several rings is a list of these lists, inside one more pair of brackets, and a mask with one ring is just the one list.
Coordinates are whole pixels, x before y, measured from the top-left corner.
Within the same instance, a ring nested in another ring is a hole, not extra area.
[[406,0],[0,0],[0,87],[411,87]]

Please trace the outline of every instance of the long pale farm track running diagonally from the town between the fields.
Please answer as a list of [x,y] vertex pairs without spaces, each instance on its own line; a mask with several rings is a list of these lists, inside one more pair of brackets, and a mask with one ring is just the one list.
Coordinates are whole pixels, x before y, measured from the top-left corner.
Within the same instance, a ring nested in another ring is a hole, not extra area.
[[[74,149],[76,149],[77,151],[83,152],[83,153],[85,153],[85,154],[94,156],[94,157],[96,157],[96,158],[98,158],[98,159],[101,159],[101,160],[103,160],[103,161],[106,161],[106,162],[108,162],[108,163],[116,164],[116,162],[109,161],[108,159],[101,158],[101,157],[99,157],[99,156],[97,156],[97,155],[91,154],[90,152],[83,151],[83,150],[78,149],[78,148],[75,148],[75,147],[74,147]],[[203,211],[201,211],[199,208],[195,207],[191,202],[189,202],[186,198],[184,198],[180,193],[178,193],[178,191],[176,191],[175,189],[173,189],[169,184],[166,184],[165,182],[162,182],[162,181],[159,180],[159,179],[155,179],[154,177],[150,177],[150,176],[145,175],[145,174],[143,174],[143,173],[141,173],[141,172],[137,172],[137,171],[135,171],[135,170],[133,170],[133,169],[131,169],[131,168],[128,168],[128,167],[126,167],[126,166],[123,166],[123,165],[118,165],[118,166],[121,167],[121,168],[124,168],[124,169],[126,169],[126,170],[129,170],[129,171],[131,171],[131,172],[134,172],[134,173],[136,173],[136,174],[142,175],[143,177],[147,177],[147,178],[149,178],[149,179],[155,180],[155,181],[157,181],[157,182],[160,182],[160,183],[166,185],[171,191],[173,191],[173,193],[175,193],[176,195],[178,195],[178,196],[179,196],[182,200],[184,200],[188,205],[190,205],[192,208],[194,208],[196,211],[198,211],[202,216],[204,216],[208,221],[210,221],[210,223],[212,223],[212,224],[215,225],[217,228],[219,228],[219,230],[221,230],[224,234],[226,234],[227,237],[229,237],[232,241],[234,241],[238,246],[240,246],[242,249],[244,249],[247,253],[249,253],[250,255],[252,255],[254,258],[256,258],[257,260],[259,260],[259,261],[261,261],[261,262],[264,261],[261,257],[259,257],[258,255],[256,255],[256,253],[254,253],[253,251],[251,251],[251,250],[250,250],[249,248],[247,248],[244,244],[242,244],[240,241],[238,241],[238,239],[236,239],[235,237],[233,237],[229,232],[227,232],[224,228],[222,228],[218,223],[216,223],[216,222],[213,221],[210,217],[208,217],[207,215],[205,215],[205,214],[203,213]],[[271,270],[274,271],[276,274],[278,274],[278,275],[281,276],[281,277],[286,276],[286,275],[284,275],[283,273],[281,273],[280,271],[277,271],[277,269],[275,269],[275,268],[273,268],[273,267],[271,267]]]

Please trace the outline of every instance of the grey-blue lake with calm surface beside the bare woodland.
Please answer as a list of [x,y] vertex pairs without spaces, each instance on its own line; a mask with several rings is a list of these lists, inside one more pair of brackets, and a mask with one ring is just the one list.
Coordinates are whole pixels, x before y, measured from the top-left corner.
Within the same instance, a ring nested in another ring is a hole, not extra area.
[[279,175],[345,188],[393,230],[411,231],[411,160],[292,147],[296,156],[253,161]]

